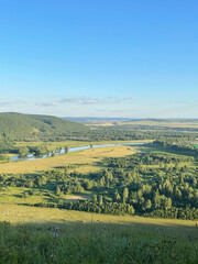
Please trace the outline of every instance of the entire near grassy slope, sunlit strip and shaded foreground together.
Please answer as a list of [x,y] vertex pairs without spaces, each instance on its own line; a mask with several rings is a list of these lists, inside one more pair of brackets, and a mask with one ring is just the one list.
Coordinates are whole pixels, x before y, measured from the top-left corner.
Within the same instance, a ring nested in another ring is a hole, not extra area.
[[[196,264],[193,221],[0,207],[2,264]],[[11,221],[12,224],[6,221]],[[20,222],[20,224],[19,224]]]

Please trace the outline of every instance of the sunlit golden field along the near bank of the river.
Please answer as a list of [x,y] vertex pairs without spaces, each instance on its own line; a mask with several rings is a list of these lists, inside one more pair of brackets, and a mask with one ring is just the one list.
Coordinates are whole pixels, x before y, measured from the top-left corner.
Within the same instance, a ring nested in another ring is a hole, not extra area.
[[101,161],[103,157],[132,155],[139,150],[140,147],[136,146],[107,146],[88,148],[78,152],[69,152],[67,154],[57,155],[54,157],[0,164],[0,173],[34,174],[67,165],[75,165],[76,172],[89,173],[100,169],[100,167],[97,165],[97,162]]

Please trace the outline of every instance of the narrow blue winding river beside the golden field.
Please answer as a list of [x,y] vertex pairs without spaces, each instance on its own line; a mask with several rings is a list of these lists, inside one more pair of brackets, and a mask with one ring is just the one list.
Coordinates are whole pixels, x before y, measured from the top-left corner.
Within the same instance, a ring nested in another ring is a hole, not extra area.
[[[105,147],[105,146],[116,146],[116,145],[144,145],[151,142],[128,142],[128,143],[117,143],[117,144],[101,144],[101,145],[86,145],[86,146],[76,146],[76,147],[70,147],[68,148],[68,152],[76,152],[76,151],[84,151],[84,150],[88,150],[90,147],[96,148],[96,147]],[[65,153],[65,150],[61,150],[59,152],[57,151],[53,151],[51,152],[50,155],[43,155],[43,156],[35,156],[34,154],[29,154],[26,157],[19,157],[19,156],[11,156],[10,157],[10,162],[22,162],[22,161],[32,161],[32,160],[38,160],[38,158],[45,158],[52,155],[52,153],[54,153],[55,155],[61,155]]]

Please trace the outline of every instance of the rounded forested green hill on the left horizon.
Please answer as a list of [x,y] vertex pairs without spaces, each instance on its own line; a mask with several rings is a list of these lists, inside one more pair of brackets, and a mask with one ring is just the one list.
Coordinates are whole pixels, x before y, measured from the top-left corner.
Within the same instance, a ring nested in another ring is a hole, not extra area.
[[56,117],[13,112],[0,113],[0,138],[10,140],[56,136],[86,131],[89,129],[82,124]]

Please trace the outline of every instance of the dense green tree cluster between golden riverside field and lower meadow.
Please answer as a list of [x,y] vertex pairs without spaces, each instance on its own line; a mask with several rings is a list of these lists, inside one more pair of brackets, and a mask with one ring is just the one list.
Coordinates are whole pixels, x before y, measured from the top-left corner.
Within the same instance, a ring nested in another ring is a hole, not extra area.
[[106,169],[88,175],[67,167],[42,175],[1,175],[7,186],[48,189],[57,197],[95,194],[90,201],[59,205],[62,208],[105,213],[139,213],[182,219],[198,218],[198,167],[193,156],[163,152],[105,158]]

